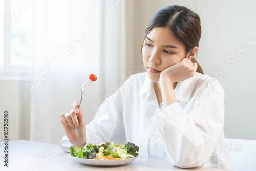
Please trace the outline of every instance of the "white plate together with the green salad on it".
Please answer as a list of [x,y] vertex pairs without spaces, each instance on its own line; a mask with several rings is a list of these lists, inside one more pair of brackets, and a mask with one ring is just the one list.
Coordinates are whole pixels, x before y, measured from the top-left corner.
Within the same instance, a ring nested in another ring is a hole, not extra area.
[[91,166],[120,166],[137,159],[139,147],[133,143],[123,145],[101,142],[86,147],[70,147],[70,156],[77,162]]

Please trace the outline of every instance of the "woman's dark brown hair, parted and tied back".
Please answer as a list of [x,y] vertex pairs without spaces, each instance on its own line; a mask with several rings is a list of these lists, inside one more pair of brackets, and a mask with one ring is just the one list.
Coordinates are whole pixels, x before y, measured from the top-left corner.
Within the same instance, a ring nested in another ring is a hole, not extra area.
[[[185,54],[187,55],[191,53],[194,47],[199,46],[201,38],[200,23],[200,17],[186,7],[178,5],[168,6],[157,11],[151,18],[146,28],[145,37],[155,27],[168,27],[174,34],[174,37],[185,46]],[[198,64],[196,72],[204,74],[196,59],[193,58],[191,61]]]

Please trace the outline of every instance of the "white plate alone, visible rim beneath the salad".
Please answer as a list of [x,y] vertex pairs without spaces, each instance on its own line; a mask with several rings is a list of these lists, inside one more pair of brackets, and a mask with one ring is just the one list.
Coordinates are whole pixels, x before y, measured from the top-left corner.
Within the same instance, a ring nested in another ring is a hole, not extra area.
[[96,160],[96,159],[82,159],[82,158],[73,157],[73,156],[71,157],[79,163],[90,165],[90,166],[120,166],[120,165],[124,165],[134,161],[135,159],[137,159],[138,156],[130,159],[120,159],[120,160]]

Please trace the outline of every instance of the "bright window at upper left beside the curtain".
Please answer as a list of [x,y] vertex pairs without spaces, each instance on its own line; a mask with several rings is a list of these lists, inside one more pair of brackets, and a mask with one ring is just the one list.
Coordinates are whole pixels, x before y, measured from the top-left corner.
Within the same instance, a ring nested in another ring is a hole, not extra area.
[[1,63],[3,74],[28,76],[32,66],[32,3],[0,0]]

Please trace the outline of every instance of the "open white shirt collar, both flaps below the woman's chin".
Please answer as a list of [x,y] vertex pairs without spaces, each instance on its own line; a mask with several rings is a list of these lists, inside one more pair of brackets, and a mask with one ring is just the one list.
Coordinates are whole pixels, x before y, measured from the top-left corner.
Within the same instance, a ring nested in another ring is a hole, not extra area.
[[[195,75],[185,81],[177,83],[174,93],[178,101],[189,102],[196,79]],[[146,98],[148,98],[150,97],[151,92],[154,92],[155,94],[154,82],[148,77],[148,75],[146,75],[138,96],[147,93]]]

